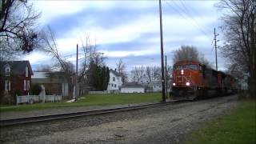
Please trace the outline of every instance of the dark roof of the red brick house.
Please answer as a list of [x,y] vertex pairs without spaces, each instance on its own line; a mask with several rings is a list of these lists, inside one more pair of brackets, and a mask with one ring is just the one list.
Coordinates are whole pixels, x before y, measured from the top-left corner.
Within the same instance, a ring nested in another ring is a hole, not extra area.
[[33,75],[33,70],[30,66],[30,61],[1,61],[0,62],[0,68],[1,68],[1,74],[5,73],[5,66],[9,65],[10,70],[14,72],[14,74],[24,74],[25,73],[25,67],[28,66],[30,70],[30,74]]

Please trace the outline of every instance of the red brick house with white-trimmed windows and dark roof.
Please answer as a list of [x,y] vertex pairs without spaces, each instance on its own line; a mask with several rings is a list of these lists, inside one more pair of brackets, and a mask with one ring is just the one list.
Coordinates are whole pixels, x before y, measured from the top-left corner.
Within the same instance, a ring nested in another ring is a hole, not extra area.
[[33,71],[29,61],[0,62],[0,89],[8,94],[28,94]]

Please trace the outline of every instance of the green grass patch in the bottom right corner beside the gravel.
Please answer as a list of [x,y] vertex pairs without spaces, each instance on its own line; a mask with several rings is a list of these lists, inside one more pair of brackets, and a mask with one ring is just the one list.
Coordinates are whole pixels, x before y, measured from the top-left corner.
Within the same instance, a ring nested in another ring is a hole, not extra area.
[[231,114],[203,124],[190,134],[186,144],[255,144],[256,104],[255,101],[241,102]]

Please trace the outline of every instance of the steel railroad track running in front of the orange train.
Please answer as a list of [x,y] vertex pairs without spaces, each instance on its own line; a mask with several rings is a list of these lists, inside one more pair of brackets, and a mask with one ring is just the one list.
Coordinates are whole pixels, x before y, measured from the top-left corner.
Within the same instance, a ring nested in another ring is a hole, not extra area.
[[181,102],[181,101],[170,101],[170,102],[157,102],[151,104],[143,104],[138,106],[123,106],[118,108],[110,108],[104,110],[90,110],[90,111],[78,111],[72,113],[62,113],[62,114],[50,114],[50,115],[41,115],[41,116],[34,116],[34,117],[27,117],[27,118],[13,118],[13,119],[5,119],[0,120],[0,126],[15,126],[15,125],[22,125],[34,122],[47,122],[53,121],[58,119],[65,119],[65,118],[78,118],[78,117],[85,117],[97,114],[110,114],[122,111],[130,111],[130,110],[140,110],[146,109],[150,107],[156,106],[166,106],[170,103],[174,102]]

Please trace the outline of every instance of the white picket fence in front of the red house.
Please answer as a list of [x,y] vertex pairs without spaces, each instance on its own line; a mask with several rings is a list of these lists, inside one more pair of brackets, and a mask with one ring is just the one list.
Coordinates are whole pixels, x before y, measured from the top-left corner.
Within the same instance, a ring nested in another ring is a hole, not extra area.
[[[16,96],[17,101],[16,104],[19,103],[34,103],[34,102],[42,102],[42,96],[40,95],[22,95]],[[46,95],[45,102],[62,102],[62,95]]]

